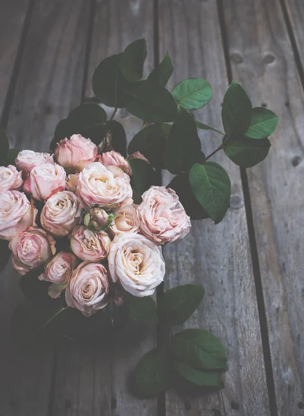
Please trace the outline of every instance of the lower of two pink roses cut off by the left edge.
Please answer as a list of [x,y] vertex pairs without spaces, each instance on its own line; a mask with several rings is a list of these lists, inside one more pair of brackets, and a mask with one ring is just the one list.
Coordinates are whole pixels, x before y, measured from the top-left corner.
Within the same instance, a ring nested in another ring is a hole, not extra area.
[[0,193],[0,239],[11,240],[35,224],[37,209],[25,193],[6,191]]

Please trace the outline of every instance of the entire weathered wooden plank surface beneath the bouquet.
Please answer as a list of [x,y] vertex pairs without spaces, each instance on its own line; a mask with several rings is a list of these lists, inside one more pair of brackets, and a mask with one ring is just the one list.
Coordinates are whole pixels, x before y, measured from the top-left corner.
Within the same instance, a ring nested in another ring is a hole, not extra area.
[[[258,166],[240,171],[220,153],[214,158],[232,182],[222,223],[195,221],[165,249],[167,288],[206,288],[184,327],[212,331],[228,349],[225,389],[132,397],[127,374],[157,345],[154,327],[137,335],[126,328],[107,353],[75,343],[21,352],[9,333],[22,299],[9,265],[0,289],[0,416],[304,415],[303,22],[303,0],[0,0],[1,125],[16,148],[47,150],[57,121],[93,101],[98,62],[142,35],[146,73],[169,51],[168,87],[189,77],[211,83],[213,99],[198,112],[205,123],[221,128],[232,79],[254,106],[279,116]],[[131,139],[140,121],[125,110],[117,119]],[[206,153],[220,141],[213,132],[201,137]]]

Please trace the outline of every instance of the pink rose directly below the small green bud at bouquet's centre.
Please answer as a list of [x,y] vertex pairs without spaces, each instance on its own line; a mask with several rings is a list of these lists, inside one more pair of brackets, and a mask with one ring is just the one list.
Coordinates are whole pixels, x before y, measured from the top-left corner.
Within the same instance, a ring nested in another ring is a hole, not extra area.
[[111,240],[104,231],[91,231],[78,225],[71,234],[71,249],[84,261],[100,261],[107,258]]

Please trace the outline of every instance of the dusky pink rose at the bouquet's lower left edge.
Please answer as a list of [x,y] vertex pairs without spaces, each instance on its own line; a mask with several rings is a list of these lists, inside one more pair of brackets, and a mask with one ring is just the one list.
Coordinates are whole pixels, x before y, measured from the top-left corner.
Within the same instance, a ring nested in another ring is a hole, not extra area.
[[12,266],[20,275],[46,263],[55,254],[55,240],[44,229],[29,227],[10,241]]

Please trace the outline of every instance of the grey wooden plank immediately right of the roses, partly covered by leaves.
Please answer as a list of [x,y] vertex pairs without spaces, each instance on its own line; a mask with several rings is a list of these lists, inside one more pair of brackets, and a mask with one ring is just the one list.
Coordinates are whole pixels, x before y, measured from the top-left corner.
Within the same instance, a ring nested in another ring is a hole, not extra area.
[[[191,76],[206,78],[213,87],[213,99],[195,114],[222,129],[221,103],[227,80],[216,2],[162,0],[159,16],[161,55],[168,50],[175,66],[170,87]],[[211,132],[201,137],[206,155],[222,140]],[[229,372],[224,376],[222,397],[213,394],[185,400],[183,395],[169,392],[166,415],[235,415],[235,410],[246,416],[269,415],[240,172],[224,154],[213,160],[229,171],[231,208],[220,225],[211,220],[193,221],[192,231],[181,243],[166,246],[166,288],[190,282],[204,285],[204,302],[183,327],[204,328],[219,336],[228,349]],[[167,173],[163,180],[168,182]]]

